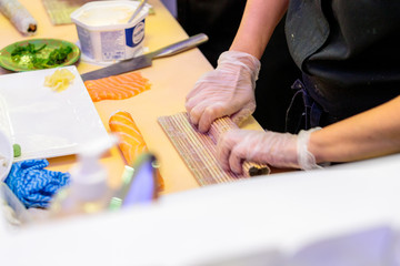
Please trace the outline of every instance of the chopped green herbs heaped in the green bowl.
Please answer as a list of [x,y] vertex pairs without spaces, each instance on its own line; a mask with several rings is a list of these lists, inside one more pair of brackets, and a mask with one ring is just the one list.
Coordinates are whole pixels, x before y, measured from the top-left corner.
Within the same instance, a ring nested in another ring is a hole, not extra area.
[[34,44],[17,45],[11,52],[11,60],[31,69],[49,69],[66,62],[72,48],[61,44],[57,49],[49,49],[47,44],[36,48]]

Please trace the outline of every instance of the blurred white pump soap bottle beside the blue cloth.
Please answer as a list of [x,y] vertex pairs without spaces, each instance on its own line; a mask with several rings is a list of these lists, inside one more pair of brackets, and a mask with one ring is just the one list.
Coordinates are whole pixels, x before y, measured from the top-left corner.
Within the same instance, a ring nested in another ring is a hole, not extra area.
[[52,201],[53,216],[89,214],[107,208],[112,195],[108,174],[100,164],[100,156],[117,143],[114,135],[97,139],[86,144],[78,154],[79,162],[71,170],[71,183]]

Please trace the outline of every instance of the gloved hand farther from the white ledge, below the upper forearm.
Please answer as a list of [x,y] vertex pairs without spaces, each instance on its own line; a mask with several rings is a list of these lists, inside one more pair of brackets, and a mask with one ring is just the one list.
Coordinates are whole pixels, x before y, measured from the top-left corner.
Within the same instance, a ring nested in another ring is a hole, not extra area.
[[238,125],[256,110],[254,88],[260,61],[238,51],[223,52],[216,70],[206,73],[186,99],[190,121],[207,132],[219,117],[231,115]]

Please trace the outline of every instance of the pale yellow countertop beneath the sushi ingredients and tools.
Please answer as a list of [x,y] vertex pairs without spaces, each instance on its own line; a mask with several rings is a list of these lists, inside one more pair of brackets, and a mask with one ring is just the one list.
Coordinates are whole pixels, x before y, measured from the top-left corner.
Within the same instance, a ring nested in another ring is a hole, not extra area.
[[[0,16],[1,48],[16,41],[36,38],[62,39],[73,43],[78,41],[74,24],[53,25],[40,0],[20,0],[20,2],[37,19],[38,31],[32,37],[23,37],[7,18]],[[149,3],[153,6],[156,14],[150,14],[146,19],[144,47],[153,51],[188,38],[184,30],[159,0],[149,0]],[[76,65],[80,73],[101,68],[82,60]],[[210,70],[212,65],[198,49],[170,58],[157,59],[151,68],[139,70],[144,78],[150,80],[150,91],[127,100],[94,103],[107,131],[109,131],[108,120],[113,112],[122,110],[131,113],[149,150],[160,162],[164,194],[197,188],[199,185],[158,124],[157,117],[184,111],[187,93],[194,82]],[[10,71],[0,69],[0,74],[7,73]],[[250,119],[242,127],[260,129],[260,125],[256,120]],[[77,163],[77,156],[49,158],[49,170],[68,172]],[[101,163],[109,172],[110,184],[118,185],[124,166],[119,149],[111,149],[102,156]]]

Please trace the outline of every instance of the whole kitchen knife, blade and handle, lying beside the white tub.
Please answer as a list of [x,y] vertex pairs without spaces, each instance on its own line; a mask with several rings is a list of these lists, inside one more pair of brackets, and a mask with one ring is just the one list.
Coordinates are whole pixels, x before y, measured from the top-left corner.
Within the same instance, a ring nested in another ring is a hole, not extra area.
[[82,74],[82,80],[97,80],[101,78],[107,78],[110,75],[118,75],[126,72],[130,72],[138,69],[143,69],[147,66],[151,66],[151,62],[153,59],[170,57],[189,49],[196,48],[199,44],[208,41],[208,37],[204,33],[199,33],[192,35],[183,41],[176,42],[168,47],[161,48],[150,53],[146,53],[143,55],[122,60],[118,63],[111,64],[103,69],[94,70],[88,73]]

